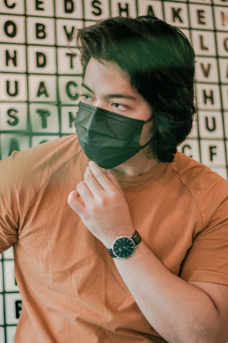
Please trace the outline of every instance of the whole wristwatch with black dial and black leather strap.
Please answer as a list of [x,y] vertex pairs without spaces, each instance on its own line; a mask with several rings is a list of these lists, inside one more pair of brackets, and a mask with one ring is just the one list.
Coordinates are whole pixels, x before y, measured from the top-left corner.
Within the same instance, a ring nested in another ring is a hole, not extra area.
[[132,256],[135,252],[135,248],[141,242],[141,236],[139,235],[138,231],[135,230],[134,234],[130,237],[128,236],[120,236],[117,237],[111,248],[107,248],[107,252],[110,256],[114,258],[128,258]]

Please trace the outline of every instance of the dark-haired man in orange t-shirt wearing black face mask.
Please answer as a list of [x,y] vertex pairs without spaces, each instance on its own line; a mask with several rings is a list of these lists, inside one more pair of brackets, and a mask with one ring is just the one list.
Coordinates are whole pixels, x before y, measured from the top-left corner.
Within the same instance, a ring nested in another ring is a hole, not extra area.
[[225,343],[227,181],[176,152],[194,52],[147,16],[77,42],[77,135],[0,164],[0,251],[14,247],[23,299],[15,343]]

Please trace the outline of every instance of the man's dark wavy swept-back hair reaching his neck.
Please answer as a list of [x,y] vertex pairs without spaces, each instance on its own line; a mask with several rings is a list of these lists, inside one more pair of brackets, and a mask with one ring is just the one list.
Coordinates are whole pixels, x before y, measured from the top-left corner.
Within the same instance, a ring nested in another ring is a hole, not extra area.
[[191,132],[195,53],[175,26],[154,16],[114,17],[78,29],[83,78],[91,57],[115,62],[152,108],[148,154],[172,162],[178,145]]

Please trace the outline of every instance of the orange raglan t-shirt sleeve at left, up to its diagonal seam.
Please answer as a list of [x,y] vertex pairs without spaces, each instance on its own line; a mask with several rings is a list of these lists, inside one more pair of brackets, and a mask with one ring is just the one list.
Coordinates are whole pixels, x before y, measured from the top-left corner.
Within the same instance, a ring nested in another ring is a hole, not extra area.
[[81,151],[77,135],[13,151],[0,161],[0,253],[18,241],[26,209],[56,170]]

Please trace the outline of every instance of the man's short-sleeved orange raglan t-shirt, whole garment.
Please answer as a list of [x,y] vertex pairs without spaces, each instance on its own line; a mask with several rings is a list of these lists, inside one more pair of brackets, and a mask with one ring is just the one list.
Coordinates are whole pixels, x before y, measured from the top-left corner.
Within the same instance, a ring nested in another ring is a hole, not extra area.
[[[67,204],[88,161],[73,134],[0,162],[0,252],[13,245],[22,296],[15,343],[165,343]],[[225,179],[179,152],[141,176],[113,173],[135,229],[172,273],[228,285]]]

